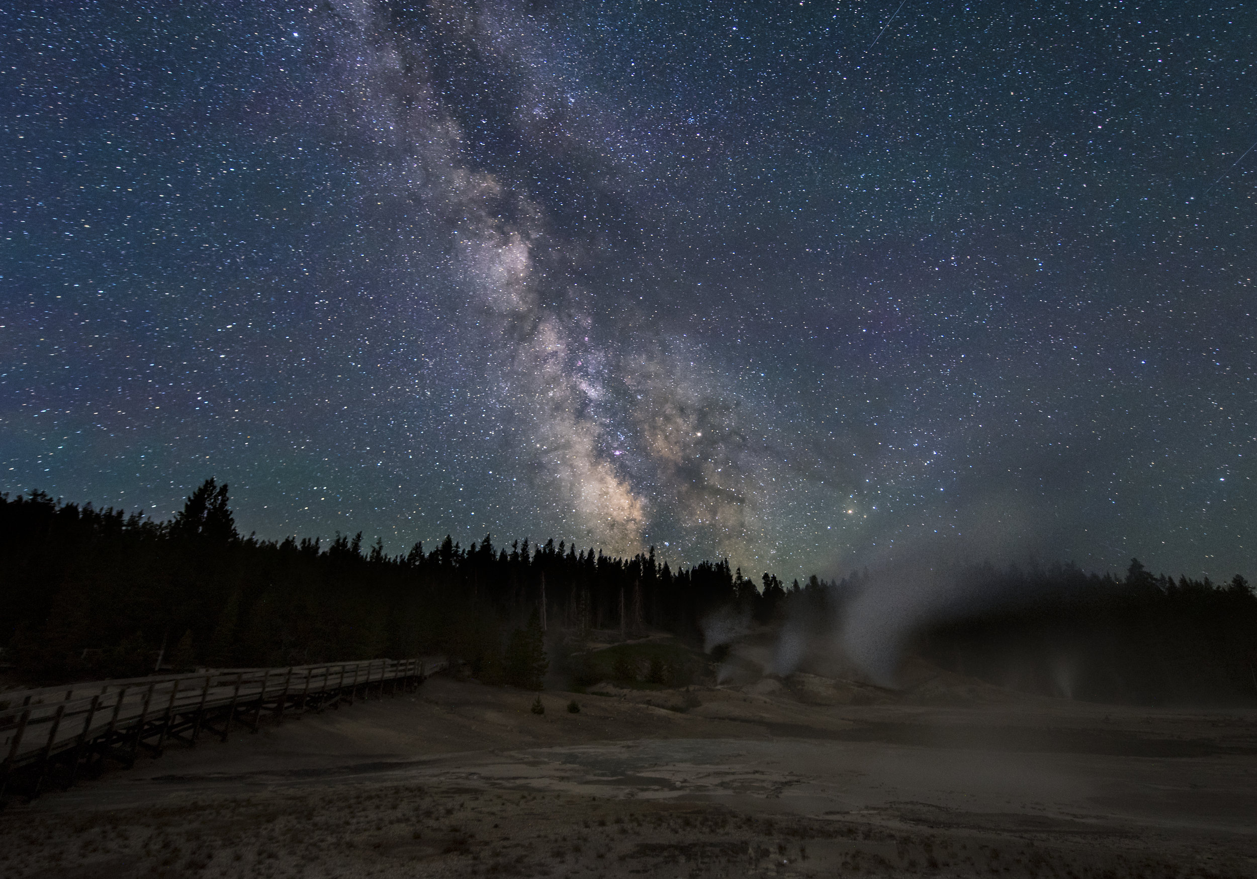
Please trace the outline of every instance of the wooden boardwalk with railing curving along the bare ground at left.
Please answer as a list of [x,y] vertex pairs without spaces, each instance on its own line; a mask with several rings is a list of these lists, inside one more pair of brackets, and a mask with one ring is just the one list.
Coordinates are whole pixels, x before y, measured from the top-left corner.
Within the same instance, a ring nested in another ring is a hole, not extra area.
[[411,691],[445,666],[427,657],[217,668],[0,693],[0,802],[6,792],[35,797],[50,781],[69,787],[106,760],[129,767],[141,750],[195,746],[202,732],[226,741],[233,726],[256,732],[264,717]]

